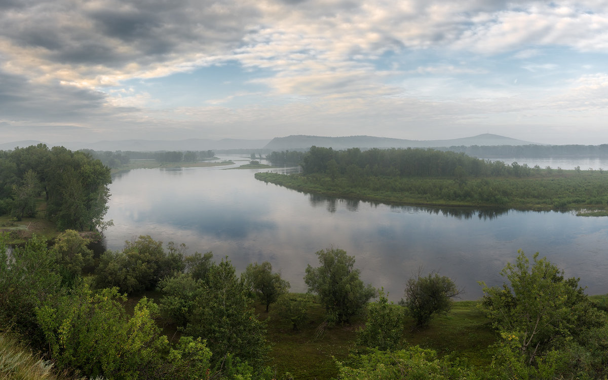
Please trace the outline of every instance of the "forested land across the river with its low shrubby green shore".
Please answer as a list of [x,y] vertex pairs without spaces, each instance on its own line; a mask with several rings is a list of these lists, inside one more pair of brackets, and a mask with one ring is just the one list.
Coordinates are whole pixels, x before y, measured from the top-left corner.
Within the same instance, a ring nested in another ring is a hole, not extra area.
[[606,173],[598,170],[528,167],[433,149],[312,147],[301,174],[256,173],[308,193],[394,204],[583,210],[603,215]]

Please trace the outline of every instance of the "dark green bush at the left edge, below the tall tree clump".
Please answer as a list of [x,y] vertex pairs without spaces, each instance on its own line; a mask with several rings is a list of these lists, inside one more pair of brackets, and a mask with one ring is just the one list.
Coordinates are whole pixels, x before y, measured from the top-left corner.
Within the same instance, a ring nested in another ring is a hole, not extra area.
[[4,239],[0,235],[0,325],[13,325],[40,343],[34,310],[60,292],[57,258],[36,236],[10,255]]

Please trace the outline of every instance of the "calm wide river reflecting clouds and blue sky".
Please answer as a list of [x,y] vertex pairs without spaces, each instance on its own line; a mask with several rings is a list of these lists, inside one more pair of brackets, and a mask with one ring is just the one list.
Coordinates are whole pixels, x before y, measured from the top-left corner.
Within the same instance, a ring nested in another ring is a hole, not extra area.
[[254,178],[256,171],[215,167],[120,174],[110,187],[106,219],[114,226],[105,232],[105,246],[122,249],[125,240],[150,235],[185,243],[190,254],[212,251],[217,261],[227,256],[239,272],[266,260],[292,291],[302,292],[306,266],[319,264],[315,252],[334,246],[353,255],[362,280],[383,286],[392,300],[402,297],[419,268],[451,277],[465,289],[463,299],[477,299],[482,295],[477,282],[502,284],[500,269],[522,249],[547,256],[567,277],[580,277],[589,294],[608,292],[608,217],[328,198],[265,184]]

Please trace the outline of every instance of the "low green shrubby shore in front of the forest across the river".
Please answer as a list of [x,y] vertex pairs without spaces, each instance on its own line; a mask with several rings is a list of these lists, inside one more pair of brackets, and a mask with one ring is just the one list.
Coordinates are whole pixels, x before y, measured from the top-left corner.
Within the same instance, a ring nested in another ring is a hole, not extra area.
[[484,178],[330,178],[323,174],[256,173],[255,178],[300,192],[387,204],[581,210],[579,215],[584,216],[605,216],[608,210],[608,175],[599,171]]

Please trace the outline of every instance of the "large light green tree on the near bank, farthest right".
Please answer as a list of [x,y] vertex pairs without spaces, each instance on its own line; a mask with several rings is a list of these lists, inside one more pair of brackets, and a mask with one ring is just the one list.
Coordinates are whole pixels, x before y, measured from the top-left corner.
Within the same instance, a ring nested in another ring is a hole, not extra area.
[[606,324],[606,316],[593,307],[578,286],[578,278],[564,278],[564,272],[547,258],[533,256],[533,264],[519,250],[516,263],[500,272],[509,283],[502,288],[483,286],[483,311],[503,336],[515,340],[528,364],[536,356],[574,340]]

